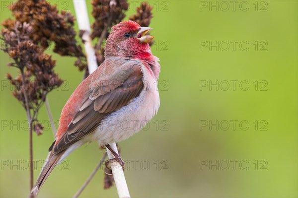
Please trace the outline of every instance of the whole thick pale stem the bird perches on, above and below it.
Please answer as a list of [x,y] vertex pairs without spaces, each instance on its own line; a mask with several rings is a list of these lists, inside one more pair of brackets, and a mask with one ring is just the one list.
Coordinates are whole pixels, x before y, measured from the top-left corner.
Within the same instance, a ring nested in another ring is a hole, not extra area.
[[[91,74],[97,68],[97,62],[95,57],[95,51],[91,43],[90,39],[90,23],[88,18],[88,12],[86,7],[85,0],[73,0],[74,1],[74,9],[76,14],[76,20],[78,23],[79,30],[84,30],[84,34],[82,35],[82,39],[85,41],[84,48],[87,56],[88,70]],[[118,149],[116,143],[110,144],[110,146],[118,153]],[[110,153],[107,149],[109,159],[114,158],[114,155]],[[116,168],[115,168],[116,167]],[[126,180],[124,177],[124,173],[122,168],[118,162],[112,163],[112,172],[114,176],[114,181],[116,184],[116,188],[118,191],[118,195],[120,198],[129,198],[128,187],[126,184]]]

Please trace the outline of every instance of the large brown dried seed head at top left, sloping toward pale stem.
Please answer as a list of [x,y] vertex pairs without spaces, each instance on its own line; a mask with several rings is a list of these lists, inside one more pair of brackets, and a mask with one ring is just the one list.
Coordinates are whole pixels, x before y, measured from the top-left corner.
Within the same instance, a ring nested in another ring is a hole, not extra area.
[[[34,44],[45,50],[53,41],[55,53],[81,59],[79,70],[87,67],[85,55],[75,40],[75,18],[70,12],[59,13],[56,5],[51,5],[46,0],[18,0],[10,6],[10,10],[17,22],[30,24],[27,32]],[[13,27],[12,22],[11,19],[5,20],[2,25],[6,28]]]

